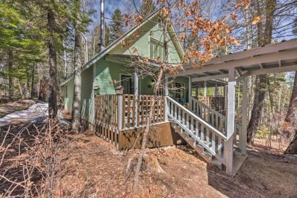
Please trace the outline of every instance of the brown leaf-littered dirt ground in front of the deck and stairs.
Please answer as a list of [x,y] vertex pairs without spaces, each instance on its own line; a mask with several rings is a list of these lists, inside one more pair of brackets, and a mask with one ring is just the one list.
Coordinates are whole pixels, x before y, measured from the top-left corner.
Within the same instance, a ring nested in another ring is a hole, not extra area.
[[[93,134],[73,136],[72,154],[57,195],[88,190],[91,197],[132,197],[129,158]],[[260,145],[249,146],[248,159],[235,177],[208,165],[190,148],[153,148],[165,173],[144,168],[136,197],[297,197],[297,156]]]

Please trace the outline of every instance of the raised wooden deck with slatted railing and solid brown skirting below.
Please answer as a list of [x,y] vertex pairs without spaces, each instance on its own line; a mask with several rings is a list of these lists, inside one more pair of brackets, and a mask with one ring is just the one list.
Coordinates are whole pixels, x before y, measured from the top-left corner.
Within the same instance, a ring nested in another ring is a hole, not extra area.
[[[138,147],[151,109],[152,95],[95,95],[95,133],[117,148]],[[165,122],[165,97],[153,107],[153,135],[148,147],[173,144],[169,122]],[[157,130],[158,129],[158,130]]]

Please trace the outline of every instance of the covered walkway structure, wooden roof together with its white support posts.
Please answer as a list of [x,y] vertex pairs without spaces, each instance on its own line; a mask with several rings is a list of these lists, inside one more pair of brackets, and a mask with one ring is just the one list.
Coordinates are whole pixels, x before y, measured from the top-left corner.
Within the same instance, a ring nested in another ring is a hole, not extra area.
[[[297,39],[257,47],[211,59],[204,66],[184,66],[184,70],[173,76],[188,76],[189,90],[202,81],[228,78],[227,124],[226,124],[226,172],[233,175],[242,163],[233,163],[233,136],[235,135],[235,85],[243,82],[242,120],[239,147],[246,155],[248,124],[248,76],[282,73],[297,70]],[[192,94],[189,91],[190,110],[193,109]]]

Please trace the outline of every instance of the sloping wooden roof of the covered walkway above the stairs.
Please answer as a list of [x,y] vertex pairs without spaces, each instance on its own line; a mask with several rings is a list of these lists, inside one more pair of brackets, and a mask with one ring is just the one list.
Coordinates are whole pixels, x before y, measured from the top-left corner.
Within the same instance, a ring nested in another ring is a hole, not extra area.
[[296,71],[297,39],[216,57],[201,67],[187,64],[184,71],[169,76],[190,76],[194,83],[228,78],[231,68],[238,77]]

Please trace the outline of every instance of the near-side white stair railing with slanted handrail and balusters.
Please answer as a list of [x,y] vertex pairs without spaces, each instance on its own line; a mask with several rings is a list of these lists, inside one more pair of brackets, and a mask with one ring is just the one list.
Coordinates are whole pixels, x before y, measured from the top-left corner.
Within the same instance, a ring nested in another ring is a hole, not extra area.
[[226,165],[224,142],[226,135],[187,108],[166,96],[167,115],[206,151]]

